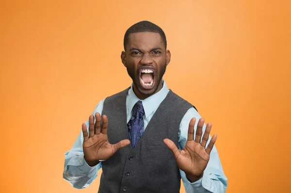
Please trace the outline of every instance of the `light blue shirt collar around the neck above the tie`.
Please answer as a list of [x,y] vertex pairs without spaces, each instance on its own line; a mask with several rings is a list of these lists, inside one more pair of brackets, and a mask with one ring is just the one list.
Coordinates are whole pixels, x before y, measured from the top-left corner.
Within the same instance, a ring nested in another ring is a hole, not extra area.
[[147,97],[145,100],[140,100],[133,92],[131,84],[127,100],[127,114],[129,115],[129,113],[131,113],[134,104],[136,104],[138,101],[142,101],[145,110],[145,116],[147,118],[162,103],[168,92],[169,89],[166,85],[166,82],[162,80],[162,89],[159,92],[151,95],[150,97]]

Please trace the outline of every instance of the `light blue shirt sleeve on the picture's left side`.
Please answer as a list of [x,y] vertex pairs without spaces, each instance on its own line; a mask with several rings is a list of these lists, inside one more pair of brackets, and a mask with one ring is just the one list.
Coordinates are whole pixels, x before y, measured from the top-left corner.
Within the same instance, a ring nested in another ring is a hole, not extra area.
[[[102,113],[103,103],[104,100],[100,101],[92,115],[95,115],[95,113]],[[89,120],[86,121],[86,126],[89,133]],[[97,171],[101,168],[101,162],[93,167],[86,163],[82,144],[83,133],[81,131],[73,147],[65,152],[63,178],[77,189],[89,186],[97,178]]]

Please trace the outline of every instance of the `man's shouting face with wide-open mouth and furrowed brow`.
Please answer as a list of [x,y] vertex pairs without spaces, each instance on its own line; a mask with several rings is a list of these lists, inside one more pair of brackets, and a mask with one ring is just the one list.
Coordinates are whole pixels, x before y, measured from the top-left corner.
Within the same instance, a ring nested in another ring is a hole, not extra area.
[[171,54],[165,50],[160,34],[131,33],[125,51],[121,59],[133,81],[137,96],[140,95],[140,99],[146,98],[162,89],[162,76]]

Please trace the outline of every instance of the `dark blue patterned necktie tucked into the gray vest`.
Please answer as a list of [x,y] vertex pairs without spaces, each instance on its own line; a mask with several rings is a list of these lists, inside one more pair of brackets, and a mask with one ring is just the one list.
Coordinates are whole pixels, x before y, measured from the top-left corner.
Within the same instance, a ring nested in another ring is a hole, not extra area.
[[145,114],[144,107],[141,101],[134,104],[132,108],[132,116],[128,122],[129,140],[131,142],[131,148],[133,149],[144,133],[144,119]]

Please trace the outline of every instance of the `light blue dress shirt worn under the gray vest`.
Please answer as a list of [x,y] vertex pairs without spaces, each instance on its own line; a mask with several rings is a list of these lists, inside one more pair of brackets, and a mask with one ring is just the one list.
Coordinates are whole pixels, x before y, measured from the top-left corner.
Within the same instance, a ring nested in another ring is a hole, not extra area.
[[[145,100],[141,100],[145,109],[144,119],[144,130],[146,130],[146,126],[150,119],[153,117],[159,105],[165,99],[169,89],[164,80],[162,89],[156,94],[146,98]],[[105,99],[104,99],[105,100]],[[104,100],[100,101],[100,103],[96,106],[92,115],[95,113],[102,113]],[[140,99],[135,95],[132,90],[132,85],[129,89],[129,92],[126,97],[126,108],[127,108],[127,122],[129,121],[132,108],[136,102]],[[179,149],[182,150],[187,142],[188,136],[188,127],[189,122],[192,118],[196,118],[196,123],[194,126],[194,132],[197,128],[198,120],[201,116],[194,109],[194,107],[190,108],[183,119],[181,120],[179,132],[178,132],[178,144]],[[109,120],[110,121],[110,120]],[[89,130],[89,120],[86,122],[87,129]],[[205,132],[206,125],[203,126],[203,134]],[[89,131],[88,131],[89,133]],[[195,135],[194,135],[195,137]],[[208,143],[210,142],[211,137],[209,137]],[[67,180],[74,188],[82,189],[89,186],[96,178],[97,171],[102,167],[102,162],[98,163],[96,166],[90,167],[84,160],[84,153],[82,149],[83,143],[83,134],[82,131],[79,134],[77,140],[75,141],[71,150],[65,153],[65,168],[63,173],[63,178]],[[207,146],[206,146],[207,147]],[[191,183],[187,178],[183,171],[180,170],[181,178],[186,190],[186,193],[225,193],[227,187],[227,178],[224,174],[218,152],[216,147],[214,146],[210,153],[209,163],[204,171],[203,177],[198,181]]]

